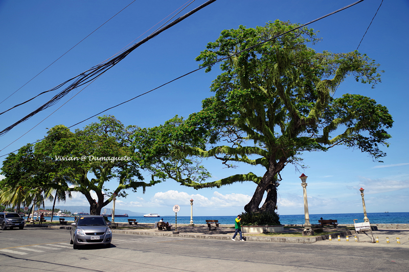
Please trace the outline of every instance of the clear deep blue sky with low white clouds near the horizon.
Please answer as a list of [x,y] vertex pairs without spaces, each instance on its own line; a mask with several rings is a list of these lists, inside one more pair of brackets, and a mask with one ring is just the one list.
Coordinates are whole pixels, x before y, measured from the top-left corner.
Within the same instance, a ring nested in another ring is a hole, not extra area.
[[[186,0],[187,1],[187,0]],[[135,1],[103,27],[86,38],[73,50],[55,62],[26,86],[0,104],[8,109],[39,92],[48,90],[88,68],[104,61],[150,29],[158,21],[186,3],[173,1]],[[181,14],[204,3],[195,1]],[[381,0],[364,1],[309,27],[319,30],[323,41],[313,48],[317,52],[351,52],[355,50],[367,30]],[[37,73],[46,68],[72,46],[102,23],[131,3],[128,1],[1,1],[0,2],[0,101],[16,91]],[[251,4],[250,4],[251,3]],[[0,156],[22,145],[42,138],[46,128],[74,123],[108,107],[148,91],[198,67],[194,58],[208,42],[214,41],[223,29],[263,26],[275,19],[305,23],[351,4],[352,1],[240,1],[218,0],[183,22],[158,35],[133,51],[123,61],[73,96],[81,88],[64,97],[57,105],[44,110],[21,123],[0,138]],[[347,79],[335,96],[356,93],[374,98],[387,106],[394,118],[390,147],[384,147],[388,156],[384,163],[373,162],[358,150],[335,147],[330,151],[305,153],[301,171],[308,176],[307,194],[310,213],[357,213],[362,211],[358,189],[365,189],[368,212],[407,212],[409,201],[409,156],[407,129],[407,67],[409,38],[405,34],[409,23],[409,3],[405,0],[385,1],[363,39],[359,51],[366,53],[385,70],[382,83],[375,89],[370,85]],[[161,24],[161,23],[160,23]],[[158,24],[157,26],[160,26]],[[156,29],[156,28],[153,28]],[[153,30],[152,29],[152,30]],[[150,33],[150,32],[148,32]],[[147,34],[143,35],[146,37]],[[198,71],[173,82],[137,100],[112,109],[125,125],[153,127],[174,115],[187,117],[201,109],[203,98],[212,93],[209,86],[218,75]],[[36,98],[24,106],[0,115],[1,129],[25,116],[48,101],[54,93]],[[72,98],[72,100],[70,100]],[[69,102],[67,102],[70,100]],[[63,103],[58,111],[53,113]],[[53,113],[50,117],[43,120]],[[36,126],[43,120],[38,126]],[[80,125],[82,128],[93,118]],[[36,126],[36,127],[35,127]],[[35,127],[35,128],[33,128]],[[33,129],[32,129],[33,128]],[[32,129],[32,130],[31,130]],[[30,132],[28,132],[31,130]],[[74,130],[74,128],[72,129]],[[27,134],[25,134],[28,132]],[[22,136],[25,134],[24,136]],[[21,138],[19,138],[22,136]],[[19,138],[18,140],[16,140]],[[16,141],[15,141],[16,140]],[[13,142],[15,141],[15,142]],[[13,142],[13,143],[12,143]],[[6,147],[7,146],[7,147]],[[3,161],[5,157],[0,157]],[[215,180],[263,169],[245,165],[223,169],[212,160],[203,161]],[[282,171],[279,188],[278,212],[303,214],[301,172],[287,165]],[[116,181],[110,181],[113,184]],[[214,189],[194,190],[167,181],[142,190],[129,192],[126,199],[117,201],[117,208],[135,212],[172,215],[172,206],[181,206],[180,215],[190,214],[189,200],[194,200],[195,215],[236,215],[251,199],[256,185],[238,183]],[[85,197],[75,194],[65,206],[88,206]],[[107,208],[111,205],[107,206]]]

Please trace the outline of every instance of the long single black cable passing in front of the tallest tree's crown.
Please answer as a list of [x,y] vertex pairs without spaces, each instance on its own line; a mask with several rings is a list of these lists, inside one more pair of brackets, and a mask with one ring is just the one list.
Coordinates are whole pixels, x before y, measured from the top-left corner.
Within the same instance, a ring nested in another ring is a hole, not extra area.
[[[336,11],[333,11],[333,12],[331,12],[331,13],[328,13],[327,15],[321,16],[321,17],[319,17],[319,18],[317,18],[317,19],[314,19],[314,20],[309,21],[309,22],[307,22],[307,23],[305,23],[305,24],[302,24],[302,25],[299,26],[299,27],[293,28],[293,29],[288,30],[288,31],[286,31],[286,32],[284,32],[284,33],[281,33],[281,34],[279,34],[279,35],[276,35],[276,36],[274,36],[274,37],[272,37],[272,38],[270,38],[270,39],[267,39],[267,40],[262,41],[262,42],[260,42],[260,43],[258,43],[258,44],[255,44],[255,45],[253,45],[253,46],[250,46],[250,47],[248,47],[248,48],[246,48],[246,49],[244,49],[244,50],[242,50],[242,51],[240,51],[240,52],[237,52],[237,53],[234,53],[234,54],[232,54],[232,55],[226,56],[226,57],[221,58],[221,59],[219,59],[219,60],[216,60],[215,62],[210,63],[210,64],[208,64],[208,65],[206,65],[206,66],[202,66],[202,67],[199,67],[199,68],[197,68],[197,69],[195,69],[195,70],[192,70],[192,71],[190,71],[190,72],[188,72],[188,73],[185,73],[185,75],[183,75],[183,76],[180,76],[180,77],[177,77],[177,78],[175,78],[175,79],[173,79],[173,80],[171,80],[171,81],[168,81],[167,83],[164,83],[164,84],[162,84],[161,86],[158,86],[158,87],[156,87],[156,88],[154,88],[154,89],[151,89],[151,90],[146,91],[146,92],[144,92],[144,93],[142,93],[142,94],[140,94],[140,95],[137,95],[137,96],[135,96],[135,97],[133,97],[133,98],[130,98],[129,100],[124,101],[124,102],[122,102],[122,103],[120,103],[120,104],[118,104],[118,105],[115,105],[115,106],[112,106],[112,107],[110,107],[110,108],[107,108],[107,109],[105,109],[105,110],[103,110],[103,111],[101,111],[101,112],[99,112],[99,113],[97,113],[97,114],[95,114],[95,115],[93,115],[93,116],[90,116],[90,117],[88,117],[88,118],[86,118],[86,119],[84,119],[84,120],[82,120],[82,121],[80,121],[80,122],[75,123],[74,125],[72,125],[72,126],[70,126],[70,127],[67,127],[67,128],[65,128],[65,129],[63,129],[63,130],[60,130],[60,131],[58,131],[58,132],[56,132],[56,133],[54,133],[54,134],[48,135],[47,137],[50,137],[50,136],[52,136],[52,135],[55,135],[55,134],[57,134],[57,133],[59,133],[59,132],[61,132],[61,131],[70,129],[70,128],[74,127],[74,126],[77,126],[77,125],[79,125],[80,123],[85,122],[86,120],[89,120],[90,118],[93,118],[93,117],[95,117],[95,116],[97,116],[97,115],[99,115],[99,114],[101,114],[101,113],[104,113],[105,111],[108,111],[108,110],[110,110],[110,109],[113,109],[113,108],[116,108],[116,107],[118,107],[118,106],[121,106],[122,104],[128,103],[128,102],[130,102],[130,101],[132,101],[132,100],[134,100],[134,99],[136,99],[136,98],[138,98],[138,97],[140,97],[140,96],[142,96],[142,95],[145,95],[145,94],[147,94],[147,93],[149,93],[149,92],[152,92],[152,91],[154,91],[154,90],[156,90],[156,89],[158,89],[158,88],[161,88],[161,87],[163,87],[163,86],[165,86],[165,85],[167,85],[167,84],[169,84],[169,83],[172,83],[172,82],[174,82],[174,81],[176,81],[176,80],[178,80],[178,79],[180,79],[180,78],[186,77],[186,76],[190,75],[190,74],[193,73],[193,72],[196,72],[196,71],[201,70],[201,69],[203,69],[203,68],[207,68],[207,67],[209,67],[209,66],[211,66],[211,65],[214,65],[214,64],[216,64],[216,63],[218,63],[218,62],[220,62],[220,61],[223,61],[223,60],[225,60],[225,59],[228,59],[228,58],[231,58],[231,57],[236,56],[236,55],[238,55],[238,54],[241,54],[242,52],[251,50],[252,48],[254,48],[254,47],[256,47],[256,46],[259,46],[260,44],[263,44],[263,43],[266,43],[266,42],[268,42],[268,41],[274,40],[274,39],[276,39],[276,38],[278,38],[278,37],[280,37],[280,36],[282,36],[282,35],[285,35],[285,34],[287,34],[287,33],[289,33],[289,32],[292,32],[292,31],[294,31],[294,30],[303,28],[303,27],[307,26],[308,24],[311,24],[311,23],[313,23],[313,22],[319,21],[319,20],[321,20],[321,19],[323,19],[323,18],[325,18],[325,17],[328,17],[328,16],[330,16],[330,15],[332,15],[332,14],[335,14],[335,13],[337,13],[337,12],[340,12],[340,11],[342,11],[342,10],[345,10],[345,9],[347,9],[347,8],[350,8],[350,7],[352,7],[352,6],[354,6],[354,5],[358,4],[358,3],[360,3],[360,2],[362,2],[362,1],[363,1],[363,0],[359,0],[359,1],[357,1],[357,2],[355,2],[355,3],[352,3],[352,4],[348,5],[348,6],[345,6],[344,8],[340,8],[340,9],[338,9],[338,10],[336,10]],[[205,3],[205,4],[206,4],[206,3]],[[31,144],[40,142],[40,141],[46,139],[47,137],[44,137],[44,138],[39,139],[39,140],[37,140],[37,141],[35,141],[35,142],[32,142]],[[6,147],[7,147],[7,146],[6,146]],[[14,152],[16,152],[16,151],[18,151],[18,150],[19,150],[19,149],[15,150],[15,151],[12,151],[12,152],[10,152],[10,153],[7,153],[7,154],[5,154],[5,155],[1,155],[0,158],[1,158],[1,157],[4,157],[4,156],[7,156],[7,155],[9,155],[9,154],[11,154],[11,153],[14,153]],[[0,150],[0,151],[2,151],[2,150]]]

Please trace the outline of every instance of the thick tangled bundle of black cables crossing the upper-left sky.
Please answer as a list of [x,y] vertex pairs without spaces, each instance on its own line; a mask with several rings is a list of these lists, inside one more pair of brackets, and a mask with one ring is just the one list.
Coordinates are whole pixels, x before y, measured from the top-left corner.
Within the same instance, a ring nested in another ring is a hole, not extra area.
[[[189,17],[190,15],[194,14],[195,12],[199,11],[202,8],[205,8],[206,6],[212,4],[213,2],[215,2],[216,0],[209,0],[206,3],[200,5],[199,7],[193,9],[192,11],[188,12],[187,14],[180,16],[179,18],[177,18],[176,20],[174,20],[173,22],[169,23],[167,26],[163,27],[161,30],[156,31],[155,33],[150,34],[148,37],[144,38],[143,40],[135,43],[134,45],[132,45],[128,50],[126,50],[125,52],[123,52],[122,54],[118,55],[115,58],[112,58],[111,60],[105,62],[104,64],[100,64],[97,66],[94,66],[86,71],[84,71],[83,73],[80,73],[80,75],[66,81],[65,83],[75,80],[70,86],[66,87],[65,89],[63,89],[61,92],[59,92],[57,95],[55,95],[53,98],[51,98],[50,101],[48,101],[47,103],[43,104],[42,106],[40,106],[39,108],[37,108],[35,111],[29,113],[28,115],[26,115],[25,117],[21,118],[20,120],[18,120],[17,122],[13,123],[13,125],[7,127],[6,129],[0,131],[0,136],[6,134],[7,132],[9,132],[11,129],[13,129],[15,126],[17,126],[19,123],[26,121],[27,119],[29,119],[30,117],[34,116],[35,114],[37,114],[38,112],[47,109],[51,106],[53,106],[55,103],[57,103],[59,100],[61,100],[62,97],[64,97],[65,95],[67,95],[68,93],[70,93],[73,89],[80,87],[90,81],[93,81],[98,75],[100,75],[101,73],[106,72],[107,70],[109,70],[110,68],[112,68],[114,65],[116,65],[118,62],[120,62],[121,60],[123,60],[126,56],[128,56],[133,50],[135,50],[136,48],[138,48],[139,46],[141,46],[142,44],[144,44],[145,42],[147,42],[148,40],[156,37],[158,34],[162,33],[163,31],[171,28],[172,26],[174,26],[175,24],[177,24],[178,22],[186,19],[187,17]],[[64,84],[65,84],[64,83]],[[60,88],[62,85],[64,84],[60,84],[57,87],[53,88],[53,90],[56,90],[58,88]],[[33,98],[32,98],[33,99]],[[21,105],[21,104],[19,104]],[[16,105],[2,113],[5,113],[15,107],[18,107],[19,105]]]

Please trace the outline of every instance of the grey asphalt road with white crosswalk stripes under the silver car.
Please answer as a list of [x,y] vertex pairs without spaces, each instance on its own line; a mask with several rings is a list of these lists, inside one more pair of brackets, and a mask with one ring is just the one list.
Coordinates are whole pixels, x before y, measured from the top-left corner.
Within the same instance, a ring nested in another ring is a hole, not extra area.
[[409,249],[114,234],[74,250],[68,230],[0,231],[0,271],[409,271]]

